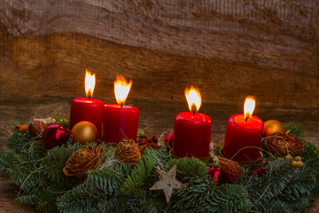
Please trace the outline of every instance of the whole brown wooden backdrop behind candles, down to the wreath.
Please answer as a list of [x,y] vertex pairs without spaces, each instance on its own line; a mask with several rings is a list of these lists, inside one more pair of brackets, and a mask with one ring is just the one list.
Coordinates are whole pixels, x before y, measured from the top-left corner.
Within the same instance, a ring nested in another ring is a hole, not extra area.
[[[128,104],[149,134],[172,130],[193,84],[218,143],[253,95],[254,114],[300,122],[319,146],[318,10],[315,0],[2,0],[0,149],[12,122],[67,119],[85,95],[85,68],[105,102],[114,102],[116,75],[133,80]],[[7,183],[0,177],[0,201],[19,212]]]

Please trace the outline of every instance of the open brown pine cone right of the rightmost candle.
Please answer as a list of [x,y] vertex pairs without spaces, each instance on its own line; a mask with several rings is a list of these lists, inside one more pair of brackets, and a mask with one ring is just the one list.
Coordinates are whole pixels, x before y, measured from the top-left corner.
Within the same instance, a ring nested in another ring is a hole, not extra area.
[[265,146],[271,154],[284,157],[287,154],[297,156],[304,147],[304,143],[293,135],[274,133],[265,139]]

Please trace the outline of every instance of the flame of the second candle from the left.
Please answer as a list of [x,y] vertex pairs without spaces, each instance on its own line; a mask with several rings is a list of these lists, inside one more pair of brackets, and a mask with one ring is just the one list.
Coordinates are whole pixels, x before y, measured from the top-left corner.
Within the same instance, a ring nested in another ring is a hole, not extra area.
[[128,98],[128,92],[132,86],[132,81],[127,80],[123,77],[123,75],[117,75],[114,81],[114,93],[116,102],[123,106],[126,99]]

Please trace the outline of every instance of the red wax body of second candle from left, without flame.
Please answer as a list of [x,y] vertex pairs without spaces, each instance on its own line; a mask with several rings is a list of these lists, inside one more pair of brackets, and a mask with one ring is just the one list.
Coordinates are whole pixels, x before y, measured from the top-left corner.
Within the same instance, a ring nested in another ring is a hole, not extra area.
[[132,106],[106,104],[103,114],[102,141],[118,144],[122,138],[137,137],[139,110]]

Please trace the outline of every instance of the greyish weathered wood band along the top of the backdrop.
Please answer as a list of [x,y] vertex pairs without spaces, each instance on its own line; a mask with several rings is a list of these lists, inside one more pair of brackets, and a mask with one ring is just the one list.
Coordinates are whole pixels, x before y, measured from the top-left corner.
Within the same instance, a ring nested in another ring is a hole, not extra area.
[[191,57],[316,66],[317,1],[5,0],[0,10],[13,36],[75,32]]

